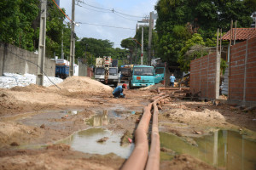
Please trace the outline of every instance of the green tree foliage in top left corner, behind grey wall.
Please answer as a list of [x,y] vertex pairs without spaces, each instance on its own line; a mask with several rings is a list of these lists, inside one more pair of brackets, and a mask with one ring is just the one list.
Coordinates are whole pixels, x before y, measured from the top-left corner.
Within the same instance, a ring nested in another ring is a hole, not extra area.
[[0,2],[0,41],[20,48],[34,49],[32,23],[37,19],[38,0],[3,0]]

